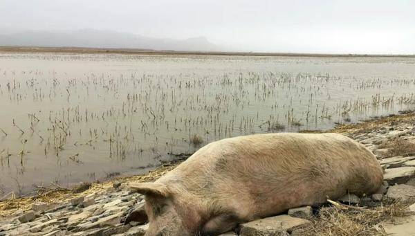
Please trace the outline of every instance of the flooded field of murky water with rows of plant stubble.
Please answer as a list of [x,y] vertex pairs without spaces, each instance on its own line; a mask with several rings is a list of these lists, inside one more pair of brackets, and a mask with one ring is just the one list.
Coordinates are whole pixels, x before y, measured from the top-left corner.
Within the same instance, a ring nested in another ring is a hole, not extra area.
[[415,108],[415,58],[0,54],[0,198]]

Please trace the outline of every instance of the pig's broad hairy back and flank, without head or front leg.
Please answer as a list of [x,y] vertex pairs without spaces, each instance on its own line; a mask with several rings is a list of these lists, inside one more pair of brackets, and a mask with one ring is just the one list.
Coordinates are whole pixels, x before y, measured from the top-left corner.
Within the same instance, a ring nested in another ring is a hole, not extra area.
[[347,191],[374,192],[382,170],[371,152],[340,134],[258,134],[210,143],[160,181],[255,218]]

